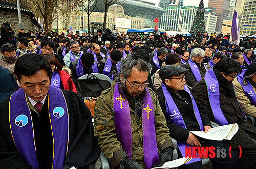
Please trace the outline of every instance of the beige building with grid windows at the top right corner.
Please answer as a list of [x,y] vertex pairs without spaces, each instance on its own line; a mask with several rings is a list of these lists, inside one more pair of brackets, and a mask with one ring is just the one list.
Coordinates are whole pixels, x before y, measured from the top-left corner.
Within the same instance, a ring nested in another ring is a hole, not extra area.
[[240,24],[241,35],[256,34],[256,1],[245,0]]

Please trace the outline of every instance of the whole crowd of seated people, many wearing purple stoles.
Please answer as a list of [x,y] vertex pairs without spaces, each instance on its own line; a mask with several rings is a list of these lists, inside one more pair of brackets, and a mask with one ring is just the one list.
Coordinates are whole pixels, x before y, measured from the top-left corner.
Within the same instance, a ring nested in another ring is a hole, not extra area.
[[[68,36],[24,29],[1,47],[0,166],[88,168],[100,151],[113,168],[146,168],[178,158],[185,147],[215,147],[212,168],[256,168],[256,40],[230,34]],[[78,78],[109,76],[91,112]],[[231,140],[207,132],[237,123]],[[231,146],[232,150],[229,149]],[[210,153],[210,152],[208,152]],[[241,153],[241,156],[239,157]],[[203,168],[200,158],[178,168]]]

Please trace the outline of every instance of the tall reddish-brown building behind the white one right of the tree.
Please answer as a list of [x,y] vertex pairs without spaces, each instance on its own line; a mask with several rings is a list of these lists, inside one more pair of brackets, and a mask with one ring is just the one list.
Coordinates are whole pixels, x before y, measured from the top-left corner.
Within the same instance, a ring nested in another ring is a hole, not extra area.
[[217,33],[221,32],[222,21],[228,16],[230,0],[209,0],[208,7],[216,9],[216,16],[218,16],[216,29]]

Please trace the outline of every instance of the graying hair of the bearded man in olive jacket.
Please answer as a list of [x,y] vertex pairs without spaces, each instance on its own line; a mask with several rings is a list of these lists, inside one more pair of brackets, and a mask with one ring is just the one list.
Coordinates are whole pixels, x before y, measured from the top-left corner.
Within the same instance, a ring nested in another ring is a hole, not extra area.
[[151,65],[149,63],[146,63],[142,59],[129,57],[121,62],[120,74],[123,75],[123,78],[127,78],[131,75],[134,68],[139,71],[150,72]]

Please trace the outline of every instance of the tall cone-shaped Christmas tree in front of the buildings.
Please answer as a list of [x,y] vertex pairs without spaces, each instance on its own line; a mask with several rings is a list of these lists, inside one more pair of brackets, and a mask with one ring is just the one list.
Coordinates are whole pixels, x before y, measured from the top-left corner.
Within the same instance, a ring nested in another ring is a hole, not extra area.
[[194,18],[193,24],[190,27],[189,33],[192,32],[197,34],[198,32],[204,33],[205,32],[205,25],[204,25],[204,1],[201,0],[199,7],[197,9],[196,16]]

